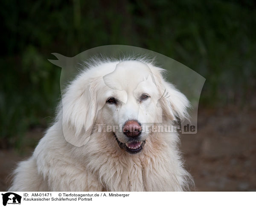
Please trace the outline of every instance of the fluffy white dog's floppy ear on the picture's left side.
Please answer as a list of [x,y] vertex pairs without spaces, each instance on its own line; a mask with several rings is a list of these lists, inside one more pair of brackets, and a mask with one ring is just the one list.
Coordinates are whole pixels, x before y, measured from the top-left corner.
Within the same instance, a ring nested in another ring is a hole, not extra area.
[[63,135],[76,147],[87,143],[93,129],[98,112],[94,89],[88,78],[80,77],[68,86],[62,97]]

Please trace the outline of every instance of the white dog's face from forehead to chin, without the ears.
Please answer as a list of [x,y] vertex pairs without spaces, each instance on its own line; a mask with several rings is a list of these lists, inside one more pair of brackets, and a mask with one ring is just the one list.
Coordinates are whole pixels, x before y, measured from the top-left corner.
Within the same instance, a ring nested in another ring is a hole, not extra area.
[[120,147],[130,153],[140,152],[148,127],[162,115],[157,107],[161,95],[150,68],[140,61],[123,61],[103,79],[107,86],[102,108],[104,124],[113,129]]

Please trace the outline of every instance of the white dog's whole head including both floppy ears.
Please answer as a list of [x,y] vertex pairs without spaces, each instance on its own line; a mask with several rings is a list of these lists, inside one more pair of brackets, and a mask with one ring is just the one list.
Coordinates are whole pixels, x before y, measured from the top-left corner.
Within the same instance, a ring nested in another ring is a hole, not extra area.
[[[95,124],[104,124],[119,147],[133,154],[143,150],[151,125],[177,116],[182,119],[189,105],[182,93],[163,80],[161,70],[126,60],[84,72],[62,99],[66,140],[79,147]],[[163,97],[165,92],[168,96]]]

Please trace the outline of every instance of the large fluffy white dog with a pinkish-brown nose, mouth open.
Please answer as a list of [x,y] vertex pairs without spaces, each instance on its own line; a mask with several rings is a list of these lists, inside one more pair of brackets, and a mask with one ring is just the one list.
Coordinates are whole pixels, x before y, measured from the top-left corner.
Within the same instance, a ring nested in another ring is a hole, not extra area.
[[9,191],[188,190],[177,132],[151,129],[187,117],[189,101],[163,71],[143,59],[87,66]]

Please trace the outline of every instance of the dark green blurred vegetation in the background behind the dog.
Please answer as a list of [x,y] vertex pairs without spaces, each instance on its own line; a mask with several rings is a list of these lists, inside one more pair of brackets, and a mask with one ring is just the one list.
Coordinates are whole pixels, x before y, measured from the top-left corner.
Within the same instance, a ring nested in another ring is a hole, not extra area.
[[47,59],[122,44],[159,52],[206,83],[204,107],[244,107],[256,89],[256,1],[3,0],[0,148],[21,148],[46,128],[60,99],[61,68]]

